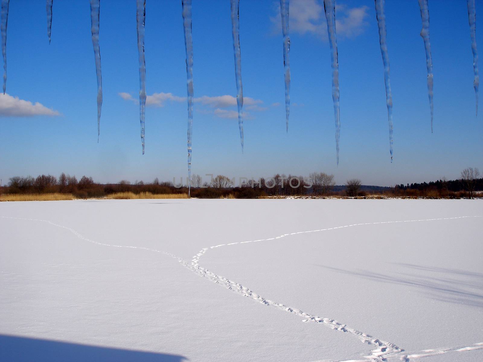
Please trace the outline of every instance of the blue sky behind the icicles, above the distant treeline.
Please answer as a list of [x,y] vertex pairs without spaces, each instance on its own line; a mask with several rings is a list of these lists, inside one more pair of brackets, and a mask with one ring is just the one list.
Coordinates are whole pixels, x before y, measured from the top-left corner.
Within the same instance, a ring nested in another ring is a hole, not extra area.
[[[90,175],[100,182],[152,181],[155,177],[176,177],[179,181],[185,177],[187,111],[181,0],[146,2],[146,90],[150,96],[157,95],[150,98],[146,109],[146,153],[142,155],[136,103],[135,0],[101,1],[104,99],[99,144],[89,1],[54,2],[50,45],[45,2],[11,1],[7,30],[10,97],[0,98],[3,183],[15,175],[58,176],[61,172]],[[228,0],[193,0],[194,89],[199,98],[194,108],[194,173],[222,173],[231,178],[325,171],[333,173],[337,183],[358,177],[364,184],[394,185],[453,179],[465,167],[483,168],[483,100],[476,118],[466,1],[429,1],[433,134],[418,3],[386,3],[394,103],[392,164],[374,3],[337,3],[339,166],[330,51],[321,2],[292,0],[290,4],[292,83],[287,134],[279,3],[241,0],[245,96],[245,147],[241,153],[238,120],[232,118],[236,106],[231,97],[236,97],[236,84],[230,4]],[[477,14],[483,11],[481,5],[477,1]],[[483,47],[480,29],[477,22],[477,42]],[[133,99],[128,99],[129,95]],[[216,98],[220,96],[231,97]],[[39,102],[45,108],[11,97]]]

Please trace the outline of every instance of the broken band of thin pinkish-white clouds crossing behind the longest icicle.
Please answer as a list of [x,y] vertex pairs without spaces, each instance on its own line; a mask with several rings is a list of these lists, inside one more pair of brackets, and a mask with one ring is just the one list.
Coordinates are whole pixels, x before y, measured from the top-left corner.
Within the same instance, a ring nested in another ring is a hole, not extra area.
[[[126,92],[118,93],[119,97],[127,101],[139,103],[139,100],[134,98],[131,94]],[[237,98],[229,95],[224,96],[202,96],[193,99],[195,102],[200,103],[202,106],[199,111],[204,114],[213,114],[219,118],[236,119],[238,118],[238,112],[235,110],[228,110],[227,108],[237,107]],[[146,106],[163,107],[167,101],[171,102],[185,102],[186,97],[174,96],[172,93],[154,93],[152,96],[146,97]],[[243,97],[243,107],[247,111],[266,111],[268,108],[263,106],[261,99],[255,99],[251,97]],[[249,112],[243,112],[244,119],[253,119],[253,116]]]

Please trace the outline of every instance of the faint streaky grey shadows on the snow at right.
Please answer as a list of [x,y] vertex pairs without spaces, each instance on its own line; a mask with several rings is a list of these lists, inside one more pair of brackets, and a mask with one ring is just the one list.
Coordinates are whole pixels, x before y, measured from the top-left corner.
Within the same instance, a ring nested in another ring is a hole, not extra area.
[[409,286],[442,302],[483,307],[483,274],[451,268],[394,263],[399,270],[394,274],[374,273],[369,270],[344,270],[317,265],[335,272],[354,275],[383,283]]

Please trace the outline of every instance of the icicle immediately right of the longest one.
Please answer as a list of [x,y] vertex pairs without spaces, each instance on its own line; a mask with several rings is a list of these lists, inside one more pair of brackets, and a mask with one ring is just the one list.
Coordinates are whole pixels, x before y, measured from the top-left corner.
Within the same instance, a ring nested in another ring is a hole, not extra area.
[[241,51],[240,51],[240,0],[231,0],[231,35],[233,36],[233,53],[235,55],[235,78],[237,82],[238,127],[240,128],[241,152],[243,152],[243,87],[241,85]]

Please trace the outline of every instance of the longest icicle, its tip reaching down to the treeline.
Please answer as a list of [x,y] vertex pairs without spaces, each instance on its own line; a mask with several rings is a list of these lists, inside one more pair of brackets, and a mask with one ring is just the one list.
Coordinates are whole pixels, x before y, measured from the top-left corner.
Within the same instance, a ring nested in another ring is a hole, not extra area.
[[186,50],[186,87],[188,92],[188,196],[191,192],[191,133],[193,130],[193,38],[191,35],[191,0],[182,0]]

